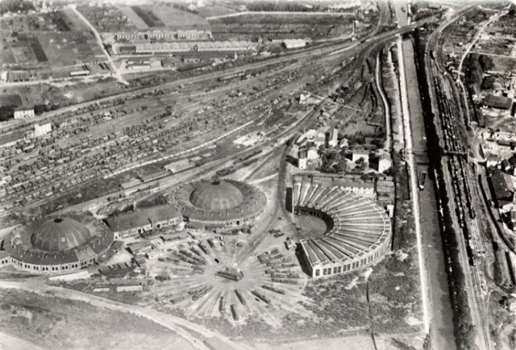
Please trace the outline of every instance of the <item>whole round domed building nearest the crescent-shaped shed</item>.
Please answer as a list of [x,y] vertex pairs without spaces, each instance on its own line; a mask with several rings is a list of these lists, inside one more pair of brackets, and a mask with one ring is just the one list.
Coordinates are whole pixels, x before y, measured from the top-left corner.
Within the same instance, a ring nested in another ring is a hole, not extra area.
[[241,181],[193,181],[173,193],[175,206],[187,218],[187,228],[239,226],[259,218],[267,196]]

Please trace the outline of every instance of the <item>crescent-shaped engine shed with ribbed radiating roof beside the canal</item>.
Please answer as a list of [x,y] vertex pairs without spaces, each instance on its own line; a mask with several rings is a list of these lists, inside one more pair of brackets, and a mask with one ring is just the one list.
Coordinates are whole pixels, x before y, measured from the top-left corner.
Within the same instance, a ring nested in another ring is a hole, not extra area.
[[[361,186],[357,183],[357,186]],[[301,240],[312,277],[349,273],[373,265],[391,247],[391,221],[373,198],[349,191],[338,182],[328,183],[294,177],[292,208],[301,215],[333,223],[319,238]]]

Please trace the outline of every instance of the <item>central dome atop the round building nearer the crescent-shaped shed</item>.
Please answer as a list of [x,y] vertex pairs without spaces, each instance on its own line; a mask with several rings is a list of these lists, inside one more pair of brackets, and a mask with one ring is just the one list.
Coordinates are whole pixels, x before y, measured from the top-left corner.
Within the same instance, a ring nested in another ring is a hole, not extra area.
[[190,202],[194,206],[210,211],[234,208],[242,201],[242,192],[227,181],[206,181],[190,194]]

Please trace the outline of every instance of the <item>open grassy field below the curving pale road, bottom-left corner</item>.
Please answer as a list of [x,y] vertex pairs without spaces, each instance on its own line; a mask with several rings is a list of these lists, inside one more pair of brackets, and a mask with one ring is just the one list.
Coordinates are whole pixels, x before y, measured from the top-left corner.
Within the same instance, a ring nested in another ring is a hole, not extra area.
[[192,349],[170,330],[132,314],[14,290],[3,290],[1,299],[2,331],[43,349]]

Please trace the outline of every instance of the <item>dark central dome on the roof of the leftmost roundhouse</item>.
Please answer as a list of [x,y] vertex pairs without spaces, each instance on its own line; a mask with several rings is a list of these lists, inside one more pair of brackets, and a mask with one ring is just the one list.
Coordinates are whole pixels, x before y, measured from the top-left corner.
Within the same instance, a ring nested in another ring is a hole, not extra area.
[[90,230],[73,218],[55,218],[33,223],[28,231],[34,248],[58,252],[83,245],[91,237]]

